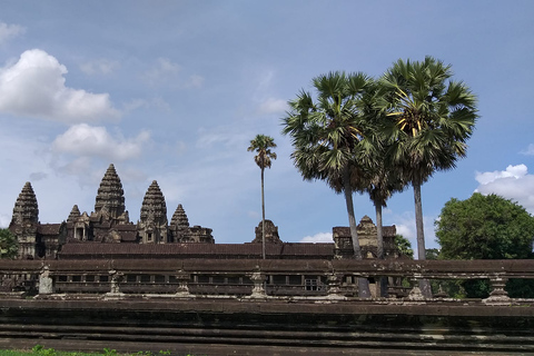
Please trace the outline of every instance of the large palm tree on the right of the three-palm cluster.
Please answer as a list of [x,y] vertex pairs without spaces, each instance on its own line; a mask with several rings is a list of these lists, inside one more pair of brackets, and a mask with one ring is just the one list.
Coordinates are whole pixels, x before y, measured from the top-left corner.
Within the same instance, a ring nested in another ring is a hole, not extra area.
[[425,259],[421,186],[465,157],[477,118],[476,97],[452,76],[451,66],[426,57],[422,62],[399,59],[380,79],[379,107],[390,119],[390,164],[414,187],[418,259]]

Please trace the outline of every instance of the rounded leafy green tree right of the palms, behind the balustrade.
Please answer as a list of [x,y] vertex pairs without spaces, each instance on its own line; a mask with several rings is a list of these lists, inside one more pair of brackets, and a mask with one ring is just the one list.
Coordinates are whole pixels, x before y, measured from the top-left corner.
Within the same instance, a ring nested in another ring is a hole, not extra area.
[[[451,199],[435,227],[439,259],[534,258],[534,217],[496,195]],[[484,280],[465,280],[462,286],[468,297],[486,297],[491,290]],[[534,297],[533,280],[511,279],[506,289],[511,297]]]

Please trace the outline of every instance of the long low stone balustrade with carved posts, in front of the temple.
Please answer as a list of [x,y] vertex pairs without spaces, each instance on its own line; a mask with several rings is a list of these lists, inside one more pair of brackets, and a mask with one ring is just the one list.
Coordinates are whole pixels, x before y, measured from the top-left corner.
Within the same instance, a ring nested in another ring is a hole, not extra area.
[[[484,301],[508,304],[506,281],[534,278],[534,260],[0,260],[0,295],[358,300],[362,277],[414,286],[421,279],[487,279],[493,290]],[[389,299],[425,300],[418,288],[390,283],[388,291]]]

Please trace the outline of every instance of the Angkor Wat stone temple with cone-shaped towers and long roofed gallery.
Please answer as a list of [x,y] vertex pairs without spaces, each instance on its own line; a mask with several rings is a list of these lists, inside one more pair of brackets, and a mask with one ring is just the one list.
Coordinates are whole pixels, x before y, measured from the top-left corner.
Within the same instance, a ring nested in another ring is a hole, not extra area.
[[[93,259],[93,258],[260,258],[261,221],[251,243],[215,244],[211,229],[189,226],[181,205],[170,224],[167,205],[156,180],[142,200],[140,219],[134,224],[125,206],[125,192],[113,165],[107,169],[98,188],[95,211],[90,215],[72,207],[67,220],[40,224],[37,197],[26,182],[13,208],[9,229],[18,239],[19,259]],[[384,227],[386,257],[398,257],[395,226]],[[365,216],[358,225],[363,255],[376,257],[376,226]],[[283,243],[278,227],[266,220],[266,256],[269,259],[352,258],[353,244],[348,227],[333,228],[333,243]]]

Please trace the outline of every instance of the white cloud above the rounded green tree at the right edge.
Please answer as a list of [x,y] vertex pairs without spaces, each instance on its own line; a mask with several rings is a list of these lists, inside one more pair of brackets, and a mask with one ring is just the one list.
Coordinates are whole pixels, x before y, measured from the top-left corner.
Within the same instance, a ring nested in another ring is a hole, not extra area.
[[534,214],[534,175],[528,175],[525,165],[511,165],[505,170],[477,171],[475,179],[479,184],[475,191],[483,195],[496,194],[517,201]]

